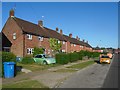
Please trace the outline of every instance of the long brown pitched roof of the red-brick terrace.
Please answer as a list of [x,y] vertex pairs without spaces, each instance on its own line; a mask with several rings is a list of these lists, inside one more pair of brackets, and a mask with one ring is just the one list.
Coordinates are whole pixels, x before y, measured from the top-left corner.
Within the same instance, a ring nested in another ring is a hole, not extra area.
[[12,17],[12,18],[16,21],[16,23],[19,25],[19,27],[25,33],[30,33],[30,34],[34,34],[34,35],[38,35],[38,36],[47,37],[47,38],[56,38],[61,41],[69,41],[70,43],[73,43],[73,44],[91,47],[88,43],[79,41],[75,38],[70,38],[69,36],[64,35],[64,34],[61,35],[60,33],[56,32],[55,30],[52,30],[50,28],[40,27],[37,24],[31,23],[26,20],[22,20],[17,17]]

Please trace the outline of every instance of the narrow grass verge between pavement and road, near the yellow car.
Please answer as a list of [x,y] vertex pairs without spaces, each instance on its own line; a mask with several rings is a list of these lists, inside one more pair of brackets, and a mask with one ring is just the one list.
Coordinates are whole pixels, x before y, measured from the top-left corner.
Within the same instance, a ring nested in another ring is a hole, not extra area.
[[82,69],[82,68],[85,68],[85,67],[87,67],[89,65],[92,65],[94,63],[95,62],[92,60],[92,61],[87,61],[87,62],[82,62],[82,63],[79,63],[79,64],[75,64],[75,65],[69,66],[67,68]]

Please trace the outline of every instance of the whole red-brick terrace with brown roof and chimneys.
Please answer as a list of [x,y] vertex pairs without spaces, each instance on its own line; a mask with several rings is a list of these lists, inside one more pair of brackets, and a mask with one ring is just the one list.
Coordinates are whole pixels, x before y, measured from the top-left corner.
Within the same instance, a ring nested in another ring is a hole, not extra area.
[[14,16],[14,10],[10,10],[9,18],[2,29],[3,51],[13,52],[15,55],[23,57],[33,53],[34,47],[42,47],[45,53],[50,55],[49,38],[56,38],[62,42],[62,52],[78,52],[80,50],[92,51],[92,47],[81,41],[78,36],[76,38],[64,35],[62,30],[56,28],[52,30],[43,25],[43,21],[38,24],[22,20]]

